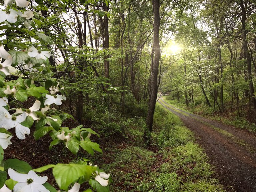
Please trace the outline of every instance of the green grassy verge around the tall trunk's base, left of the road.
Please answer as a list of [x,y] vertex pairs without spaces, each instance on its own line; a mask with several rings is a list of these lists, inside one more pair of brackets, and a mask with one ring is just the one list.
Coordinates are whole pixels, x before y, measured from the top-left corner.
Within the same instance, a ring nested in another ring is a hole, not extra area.
[[98,157],[114,181],[110,191],[224,192],[194,134],[176,115],[157,104],[153,126],[150,146],[142,142],[145,122],[137,119],[126,126],[124,142],[107,145]]

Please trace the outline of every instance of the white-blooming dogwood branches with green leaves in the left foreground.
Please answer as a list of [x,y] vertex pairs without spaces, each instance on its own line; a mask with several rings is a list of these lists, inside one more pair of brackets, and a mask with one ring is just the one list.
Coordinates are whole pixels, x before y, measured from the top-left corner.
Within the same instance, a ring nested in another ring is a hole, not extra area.
[[[61,105],[66,97],[57,79],[51,78],[51,51],[50,46],[45,46],[50,44],[51,39],[38,31],[44,17],[38,11],[41,1],[36,2],[39,4],[26,0],[5,0],[4,5],[0,4],[0,30],[3,31],[0,34],[0,192],[56,192],[47,183],[47,176],[39,176],[50,168],[60,190],[78,192],[80,184],[89,182],[93,189],[107,192],[110,175],[97,165],[92,166],[87,159],[77,164],[50,164],[36,169],[18,159],[4,160],[4,149],[12,144],[11,139],[26,139],[30,129],[34,129],[36,140],[50,135],[52,142],[49,149],[63,143],[73,154],[79,148],[90,154],[94,150],[102,152],[99,145],[90,140],[91,134],[98,136],[92,129],[82,125],[75,128],[61,126],[64,120],[73,117],[54,108]],[[28,109],[9,106],[9,101],[27,100],[34,100]],[[8,131],[13,128],[14,135]],[[92,190],[86,190],[89,191]]]

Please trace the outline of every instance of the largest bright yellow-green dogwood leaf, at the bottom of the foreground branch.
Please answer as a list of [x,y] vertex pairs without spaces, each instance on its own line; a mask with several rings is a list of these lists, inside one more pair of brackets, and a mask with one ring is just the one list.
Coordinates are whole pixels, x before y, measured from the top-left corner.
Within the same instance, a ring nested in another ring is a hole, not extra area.
[[71,183],[76,182],[80,177],[84,177],[86,180],[89,180],[95,170],[95,167],[89,165],[71,163],[57,164],[52,169],[52,173],[60,189],[67,191],[68,186]]

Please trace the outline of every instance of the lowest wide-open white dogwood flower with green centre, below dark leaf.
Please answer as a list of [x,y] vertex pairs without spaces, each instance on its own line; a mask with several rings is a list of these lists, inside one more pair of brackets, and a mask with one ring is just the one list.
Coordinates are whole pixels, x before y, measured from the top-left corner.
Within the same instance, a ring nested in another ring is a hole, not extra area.
[[50,192],[42,185],[47,181],[47,176],[40,177],[32,170],[28,174],[18,173],[11,168],[8,169],[8,174],[12,180],[18,182],[13,192]]

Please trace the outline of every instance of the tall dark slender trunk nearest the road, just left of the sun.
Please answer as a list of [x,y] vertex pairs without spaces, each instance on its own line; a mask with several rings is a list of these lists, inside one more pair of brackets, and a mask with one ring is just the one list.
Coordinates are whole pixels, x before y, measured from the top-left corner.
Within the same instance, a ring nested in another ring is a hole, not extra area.
[[157,99],[157,76],[160,60],[160,44],[159,44],[159,28],[160,28],[160,15],[159,15],[159,0],[153,0],[154,12],[154,63],[151,72],[151,94],[148,102],[147,113],[147,129],[144,132],[144,140],[148,143],[151,137],[153,117]]

